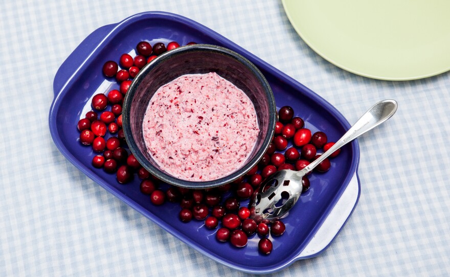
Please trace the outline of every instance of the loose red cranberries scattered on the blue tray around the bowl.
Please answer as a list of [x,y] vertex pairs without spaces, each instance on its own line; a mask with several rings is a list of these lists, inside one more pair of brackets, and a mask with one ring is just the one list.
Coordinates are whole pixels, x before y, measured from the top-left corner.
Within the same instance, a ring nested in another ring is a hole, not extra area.
[[[159,180],[151,176],[132,153],[128,153],[122,129],[122,105],[131,79],[136,77],[141,68],[158,55],[177,47],[179,44],[175,41],[167,45],[157,42],[153,46],[147,41],[141,41],[137,44],[136,56],[122,54],[119,63],[105,62],[103,75],[108,80],[115,79],[119,87],[92,98],[93,110],[87,112],[85,118],[80,119],[77,124],[80,143],[91,145],[94,152],[98,153],[92,159],[93,167],[103,168],[110,174],[115,173],[119,183],[130,182],[136,174],[141,179],[141,193],[149,195],[152,204],[162,205],[167,201],[179,203],[178,217],[182,222],[192,219],[204,221],[206,228],[217,229],[218,241],[229,241],[236,247],[244,247],[249,237],[258,236],[259,251],[268,255],[273,247],[271,238],[285,232],[284,223],[278,220],[258,224],[250,218],[250,210],[241,206],[241,202],[249,199],[267,176],[282,169],[301,170],[316,159],[320,151],[327,151],[334,143],[328,142],[324,132],[312,133],[305,128],[303,119],[294,117],[294,110],[284,106],[278,111],[279,121],[276,123],[272,143],[259,164],[245,176],[218,188],[193,190],[169,186],[163,190],[159,186]],[[292,147],[287,148],[289,140]],[[335,151],[330,158],[339,153],[340,150]],[[327,158],[314,171],[326,172],[330,167],[330,160]],[[303,191],[307,191],[307,176],[303,177],[302,183]]]

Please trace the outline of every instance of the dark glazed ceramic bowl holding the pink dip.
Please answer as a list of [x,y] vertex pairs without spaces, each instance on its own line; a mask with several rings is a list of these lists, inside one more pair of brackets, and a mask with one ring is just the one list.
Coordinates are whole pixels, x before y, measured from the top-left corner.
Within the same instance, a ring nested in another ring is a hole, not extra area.
[[[260,132],[253,152],[240,169],[216,180],[187,181],[164,172],[155,163],[147,152],[142,121],[148,103],[159,87],[185,74],[209,72],[217,73],[249,96],[256,109]],[[178,187],[204,189],[232,182],[258,163],[274,135],[276,112],[272,89],[252,62],[223,47],[194,44],[168,51],[142,68],[125,96],[122,121],[130,151],[151,174]]]

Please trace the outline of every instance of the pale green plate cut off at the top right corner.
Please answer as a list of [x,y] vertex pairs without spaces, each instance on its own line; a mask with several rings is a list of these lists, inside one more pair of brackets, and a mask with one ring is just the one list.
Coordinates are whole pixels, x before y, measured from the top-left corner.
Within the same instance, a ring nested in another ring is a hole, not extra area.
[[346,71],[414,80],[450,70],[449,0],[282,0],[300,37]]

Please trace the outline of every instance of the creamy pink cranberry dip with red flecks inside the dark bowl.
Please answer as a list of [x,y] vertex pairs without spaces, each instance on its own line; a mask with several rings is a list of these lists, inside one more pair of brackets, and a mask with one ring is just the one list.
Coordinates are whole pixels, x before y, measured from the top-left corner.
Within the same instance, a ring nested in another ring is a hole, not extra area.
[[216,73],[190,74],[160,87],[143,121],[148,152],[162,170],[209,181],[242,167],[259,133],[249,97]]

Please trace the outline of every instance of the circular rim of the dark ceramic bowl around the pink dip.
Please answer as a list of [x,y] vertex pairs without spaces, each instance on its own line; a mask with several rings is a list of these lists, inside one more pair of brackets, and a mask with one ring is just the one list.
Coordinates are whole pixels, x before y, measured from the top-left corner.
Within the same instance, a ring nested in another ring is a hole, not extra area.
[[[136,144],[136,141],[134,140],[133,134],[131,132],[131,126],[130,126],[130,109],[131,109],[131,102],[133,99],[133,96],[136,94],[137,89],[142,82],[142,80],[147,76],[149,72],[151,72],[156,66],[159,64],[170,60],[172,57],[181,55],[184,53],[189,52],[210,52],[210,53],[216,53],[216,54],[222,54],[225,56],[228,56],[230,58],[233,58],[243,64],[245,67],[249,68],[250,72],[253,73],[256,78],[259,80],[262,88],[265,91],[265,95],[267,98],[268,108],[269,108],[269,119],[268,119],[268,132],[267,135],[262,142],[262,145],[260,149],[257,151],[256,155],[247,163],[245,163],[241,168],[234,171],[233,173],[221,177],[219,179],[215,180],[209,180],[209,181],[188,181],[180,178],[176,178],[158,168],[153,166],[147,158],[143,155],[143,153],[139,150],[138,145]],[[148,171],[150,172],[154,177],[167,182],[168,184],[172,184],[177,187],[183,187],[183,188],[190,188],[190,189],[207,189],[207,188],[214,188],[214,187],[220,187],[224,184],[233,182],[234,180],[240,178],[243,176],[246,172],[248,172],[250,169],[252,169],[254,166],[256,166],[263,155],[265,154],[269,144],[272,141],[272,137],[275,133],[275,124],[277,121],[277,107],[275,104],[275,97],[272,92],[272,88],[265,79],[264,75],[261,73],[258,67],[256,67],[255,64],[253,64],[250,60],[243,57],[242,55],[236,53],[235,51],[232,51],[228,48],[220,47],[218,45],[212,45],[212,44],[192,44],[192,45],[185,45],[182,47],[178,47],[175,49],[172,49],[170,51],[167,51],[158,57],[156,57],[154,60],[152,60],[150,63],[146,64],[138,73],[136,77],[132,80],[128,91],[125,94],[124,102],[123,102],[123,110],[122,110],[122,128],[124,131],[125,140],[128,144],[128,147],[131,151],[131,153],[136,157],[136,159],[139,161],[139,163]]]

